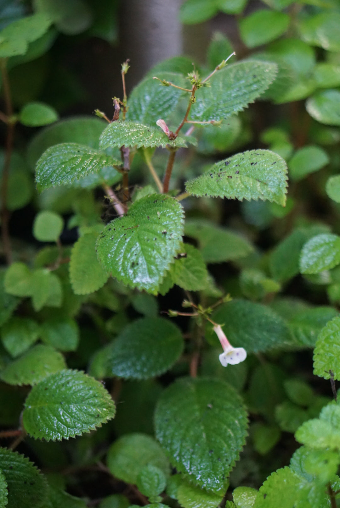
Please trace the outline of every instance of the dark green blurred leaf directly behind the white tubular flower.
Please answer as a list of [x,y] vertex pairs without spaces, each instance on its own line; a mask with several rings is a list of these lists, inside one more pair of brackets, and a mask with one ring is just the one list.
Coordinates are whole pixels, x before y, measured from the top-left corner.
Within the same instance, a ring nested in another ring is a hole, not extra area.
[[[287,345],[289,329],[269,307],[248,300],[233,300],[222,304],[212,314],[215,323],[224,324],[223,330],[234,347],[244,347],[247,353],[259,353]],[[209,327],[211,337],[214,334]],[[217,338],[214,341],[217,343]]]

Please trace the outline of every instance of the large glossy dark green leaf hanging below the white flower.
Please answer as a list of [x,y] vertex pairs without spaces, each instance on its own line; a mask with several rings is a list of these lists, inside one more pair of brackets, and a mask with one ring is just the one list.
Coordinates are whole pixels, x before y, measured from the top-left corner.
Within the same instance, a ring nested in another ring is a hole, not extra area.
[[221,380],[177,379],[158,401],[155,428],[178,471],[207,490],[226,488],[247,428],[246,411],[234,388]]

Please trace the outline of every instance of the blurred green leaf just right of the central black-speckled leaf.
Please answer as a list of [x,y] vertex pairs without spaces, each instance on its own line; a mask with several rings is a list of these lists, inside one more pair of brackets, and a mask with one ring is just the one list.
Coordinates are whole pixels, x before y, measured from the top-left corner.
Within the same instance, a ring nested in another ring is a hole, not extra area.
[[199,242],[206,263],[245,258],[253,251],[253,246],[248,240],[205,219],[186,220],[184,233]]

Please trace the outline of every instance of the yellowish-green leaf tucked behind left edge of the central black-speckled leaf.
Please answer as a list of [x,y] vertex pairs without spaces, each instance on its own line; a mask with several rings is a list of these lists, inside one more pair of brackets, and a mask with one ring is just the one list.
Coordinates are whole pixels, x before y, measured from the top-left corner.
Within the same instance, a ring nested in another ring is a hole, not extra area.
[[108,274],[99,264],[96,256],[97,233],[81,236],[74,244],[70,256],[70,281],[76,295],[88,295],[100,289]]

